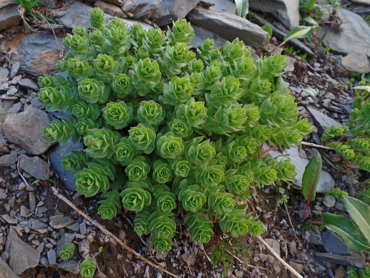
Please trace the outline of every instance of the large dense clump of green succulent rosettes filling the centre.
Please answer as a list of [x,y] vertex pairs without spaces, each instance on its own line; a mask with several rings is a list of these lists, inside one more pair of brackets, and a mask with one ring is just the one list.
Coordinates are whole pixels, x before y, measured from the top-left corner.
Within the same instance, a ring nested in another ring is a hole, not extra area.
[[77,191],[101,194],[103,219],[121,205],[137,212],[135,231],[151,234],[159,252],[173,245],[175,217],[184,216],[199,243],[211,239],[214,223],[234,237],[262,234],[262,222],[240,204],[255,188],[296,175],[262,145],[299,145],[311,128],[297,119],[280,77],[284,56],[257,63],[238,39],[220,49],[208,39],[193,52],[184,19],[163,33],[108,22],[94,8],[91,26],[64,38],[69,52],[57,67],[68,77],[39,79],[46,109],[73,115],[46,125],[44,137],[85,145],[61,161],[77,171]]

